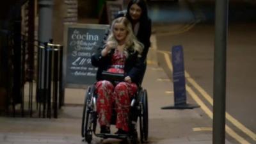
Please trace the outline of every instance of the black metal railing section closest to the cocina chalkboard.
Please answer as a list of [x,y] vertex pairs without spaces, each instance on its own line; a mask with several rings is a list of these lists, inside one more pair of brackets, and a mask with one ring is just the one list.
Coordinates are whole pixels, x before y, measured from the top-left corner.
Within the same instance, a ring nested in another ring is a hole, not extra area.
[[36,101],[39,105],[39,117],[58,117],[58,109],[63,106],[62,84],[63,46],[44,43],[38,49],[38,81]]

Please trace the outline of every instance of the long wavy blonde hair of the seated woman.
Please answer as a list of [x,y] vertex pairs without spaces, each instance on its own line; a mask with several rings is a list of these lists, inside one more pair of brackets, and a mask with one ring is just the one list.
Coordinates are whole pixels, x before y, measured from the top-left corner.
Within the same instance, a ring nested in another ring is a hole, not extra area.
[[141,52],[143,51],[144,45],[141,42],[139,42],[136,36],[134,35],[132,31],[132,24],[126,17],[118,17],[117,19],[113,20],[111,24],[111,30],[106,42],[111,42],[111,43],[113,42],[113,44],[116,44],[116,45],[118,44],[113,32],[113,27],[115,26],[116,23],[124,24],[127,30],[127,36],[125,38],[125,49],[124,49],[125,54],[128,54],[128,51],[133,51],[133,52],[138,51],[139,53],[138,56],[141,57]]

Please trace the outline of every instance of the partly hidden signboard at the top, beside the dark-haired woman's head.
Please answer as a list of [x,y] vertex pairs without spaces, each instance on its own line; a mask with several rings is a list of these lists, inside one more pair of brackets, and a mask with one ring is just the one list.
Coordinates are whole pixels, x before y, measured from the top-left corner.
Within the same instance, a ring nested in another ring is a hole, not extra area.
[[122,1],[106,1],[106,7],[108,14],[108,24],[111,24],[118,12],[123,10],[123,3]]

